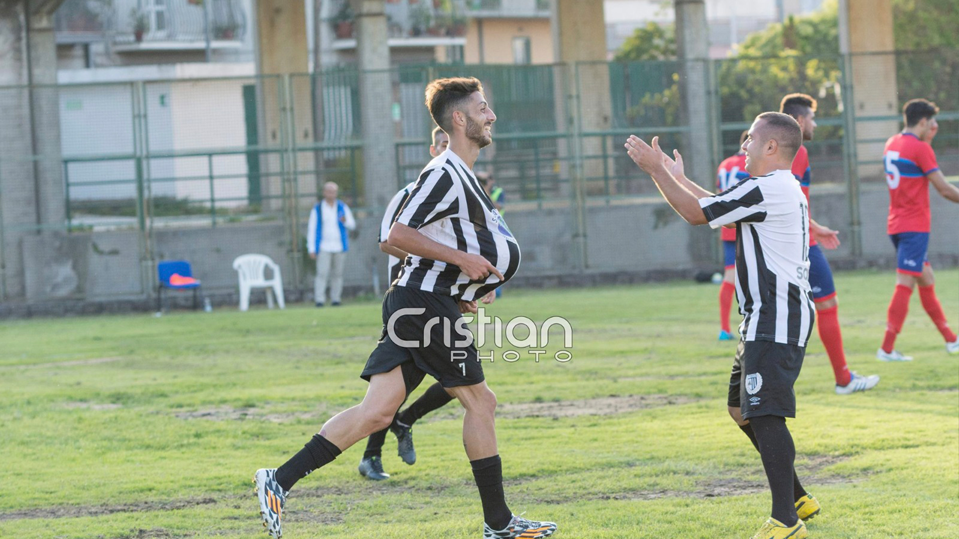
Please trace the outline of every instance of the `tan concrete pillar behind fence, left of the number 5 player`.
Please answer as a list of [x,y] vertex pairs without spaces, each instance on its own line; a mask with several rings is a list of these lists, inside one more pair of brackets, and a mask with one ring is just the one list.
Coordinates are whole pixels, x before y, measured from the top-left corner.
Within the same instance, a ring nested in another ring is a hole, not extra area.
[[[886,138],[901,128],[897,120],[867,120],[870,116],[899,116],[901,103],[925,96],[898,95],[896,43],[893,36],[892,0],[840,0],[839,52],[851,55],[852,105],[855,118],[855,155],[858,161],[878,164],[857,166],[859,177],[882,175],[878,161]],[[847,73],[847,77],[849,74]]]

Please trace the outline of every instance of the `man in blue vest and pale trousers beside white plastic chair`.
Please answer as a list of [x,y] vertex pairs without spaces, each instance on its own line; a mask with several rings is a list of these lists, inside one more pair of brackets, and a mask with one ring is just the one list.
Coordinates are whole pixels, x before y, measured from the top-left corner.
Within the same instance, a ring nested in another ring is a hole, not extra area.
[[310,258],[316,260],[316,280],[313,298],[316,307],[326,303],[326,283],[330,283],[330,302],[339,305],[343,292],[343,264],[349,250],[346,231],[357,227],[353,212],[337,198],[339,186],[328,181],[323,185],[323,199],[310,212],[307,224],[306,247]]

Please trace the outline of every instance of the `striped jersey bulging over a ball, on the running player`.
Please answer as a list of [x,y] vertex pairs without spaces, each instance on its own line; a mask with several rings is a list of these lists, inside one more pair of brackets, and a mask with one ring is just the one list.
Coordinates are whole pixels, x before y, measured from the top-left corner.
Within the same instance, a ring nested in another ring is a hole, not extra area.
[[473,171],[452,150],[423,169],[396,223],[416,228],[444,246],[479,254],[503,273],[472,281],[459,268],[409,255],[397,284],[472,301],[510,279],[520,267],[520,246],[479,185]]

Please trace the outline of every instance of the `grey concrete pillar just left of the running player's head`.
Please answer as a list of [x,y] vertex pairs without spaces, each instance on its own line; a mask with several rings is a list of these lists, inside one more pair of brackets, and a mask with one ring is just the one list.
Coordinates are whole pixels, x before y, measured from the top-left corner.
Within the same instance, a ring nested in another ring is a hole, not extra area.
[[[389,78],[384,0],[353,0],[357,13],[360,59],[360,109],[363,119],[363,188],[366,206],[386,208],[396,194],[393,86]],[[424,87],[424,90],[426,88]]]

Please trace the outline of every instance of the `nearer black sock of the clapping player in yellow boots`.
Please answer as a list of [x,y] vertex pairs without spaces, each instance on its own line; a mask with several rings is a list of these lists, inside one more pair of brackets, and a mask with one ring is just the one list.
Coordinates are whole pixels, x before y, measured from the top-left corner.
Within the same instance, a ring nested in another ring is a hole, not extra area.
[[796,505],[790,480],[794,477],[793,460],[796,448],[792,435],[785,426],[785,418],[777,415],[760,415],[749,419],[753,434],[760,448],[762,467],[769,480],[773,495],[772,517],[785,526],[795,526]]

